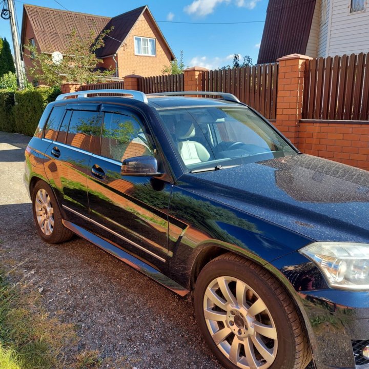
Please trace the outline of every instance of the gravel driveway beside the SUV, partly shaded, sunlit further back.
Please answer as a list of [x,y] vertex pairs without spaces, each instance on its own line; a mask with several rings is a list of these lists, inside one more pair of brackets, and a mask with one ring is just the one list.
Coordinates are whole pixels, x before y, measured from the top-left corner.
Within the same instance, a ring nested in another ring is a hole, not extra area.
[[98,350],[109,368],[220,369],[192,303],[85,240],[48,245],[39,238],[23,184],[29,139],[0,132],[0,261],[15,264],[32,289],[43,288],[52,316],[78,326],[74,353]]

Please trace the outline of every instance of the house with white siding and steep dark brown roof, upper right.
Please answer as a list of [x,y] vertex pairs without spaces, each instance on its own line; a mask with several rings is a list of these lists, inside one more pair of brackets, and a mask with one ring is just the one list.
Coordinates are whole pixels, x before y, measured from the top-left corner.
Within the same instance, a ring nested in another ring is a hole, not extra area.
[[258,64],[369,52],[367,0],[269,0]]

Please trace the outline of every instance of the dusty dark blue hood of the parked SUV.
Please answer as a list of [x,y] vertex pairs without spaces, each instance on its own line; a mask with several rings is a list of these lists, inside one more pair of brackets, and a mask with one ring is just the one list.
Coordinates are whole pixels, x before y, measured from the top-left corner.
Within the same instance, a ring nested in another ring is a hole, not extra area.
[[186,174],[190,191],[317,241],[369,242],[369,172],[311,155]]

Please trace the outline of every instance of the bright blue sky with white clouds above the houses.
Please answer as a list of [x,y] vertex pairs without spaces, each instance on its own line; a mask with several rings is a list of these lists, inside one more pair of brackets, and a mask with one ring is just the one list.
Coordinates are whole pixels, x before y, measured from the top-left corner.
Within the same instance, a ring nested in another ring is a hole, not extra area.
[[[19,27],[24,3],[110,17],[148,5],[176,57],[183,50],[186,67],[208,69],[232,64],[234,54],[256,64],[268,6],[268,0],[15,0]],[[0,18],[0,37],[11,44],[9,20]]]

